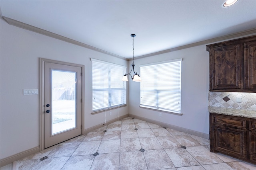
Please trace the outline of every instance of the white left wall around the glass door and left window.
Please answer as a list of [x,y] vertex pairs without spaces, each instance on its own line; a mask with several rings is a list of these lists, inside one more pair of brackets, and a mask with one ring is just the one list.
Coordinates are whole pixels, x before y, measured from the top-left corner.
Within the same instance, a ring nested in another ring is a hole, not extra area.
[[[126,66],[127,61],[9,25],[1,18],[0,158],[39,146],[40,95],[23,96],[23,89],[40,88],[39,58],[85,66],[84,129],[105,122],[105,114],[92,112],[90,58]],[[111,110],[106,121],[128,114],[128,107]]]

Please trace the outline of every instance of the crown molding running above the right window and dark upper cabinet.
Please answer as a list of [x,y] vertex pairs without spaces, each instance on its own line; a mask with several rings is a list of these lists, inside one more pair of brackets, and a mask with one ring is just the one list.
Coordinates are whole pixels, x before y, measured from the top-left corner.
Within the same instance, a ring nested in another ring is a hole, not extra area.
[[[154,55],[160,55],[160,54],[164,54],[164,53],[170,53],[172,51],[178,51],[178,50],[187,49],[187,48],[190,48],[190,47],[196,47],[198,45],[210,44],[210,43],[215,43],[215,42],[218,42],[218,41],[224,41],[224,40],[227,40],[227,39],[242,37],[242,36],[250,35],[250,34],[256,34],[256,28],[248,29],[246,31],[241,31],[241,32],[238,32],[238,33],[232,33],[232,34],[224,35],[224,36],[221,36],[221,37],[207,39],[207,40],[204,40],[204,41],[199,41],[199,42],[196,42],[196,43],[191,43],[191,44],[188,44],[188,45],[183,45],[183,46],[175,47],[175,48],[172,48],[172,49],[158,51],[156,53],[150,53],[150,54],[147,54],[147,55],[134,57],[134,60],[142,59],[142,58],[150,57],[150,56],[154,56]],[[128,61],[132,61],[132,58],[128,59]]]

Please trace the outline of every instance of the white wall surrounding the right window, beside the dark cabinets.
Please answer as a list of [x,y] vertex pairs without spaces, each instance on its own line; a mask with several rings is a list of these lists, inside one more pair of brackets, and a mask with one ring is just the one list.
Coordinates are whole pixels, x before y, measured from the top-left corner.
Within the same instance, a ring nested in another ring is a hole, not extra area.
[[[183,58],[182,61],[182,116],[140,108],[140,83],[129,81],[129,113],[154,121],[209,134],[208,87],[209,53],[205,45],[134,60],[135,70],[142,64]],[[143,81],[143,76],[142,76]]]

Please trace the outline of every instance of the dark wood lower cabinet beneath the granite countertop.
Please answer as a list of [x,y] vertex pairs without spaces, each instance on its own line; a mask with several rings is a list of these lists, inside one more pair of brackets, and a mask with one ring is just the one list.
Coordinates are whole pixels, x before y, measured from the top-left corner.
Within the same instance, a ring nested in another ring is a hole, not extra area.
[[210,113],[210,151],[256,164],[256,119]]

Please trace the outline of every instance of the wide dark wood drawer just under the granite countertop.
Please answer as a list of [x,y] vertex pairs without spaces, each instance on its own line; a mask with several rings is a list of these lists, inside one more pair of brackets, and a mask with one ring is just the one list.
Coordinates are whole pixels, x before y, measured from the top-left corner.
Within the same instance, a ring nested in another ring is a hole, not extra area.
[[212,123],[214,124],[227,125],[246,129],[246,120],[243,120],[242,117],[240,119],[236,119],[226,116],[214,115],[212,121]]

